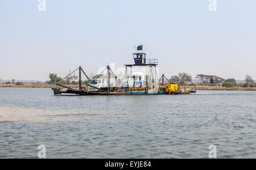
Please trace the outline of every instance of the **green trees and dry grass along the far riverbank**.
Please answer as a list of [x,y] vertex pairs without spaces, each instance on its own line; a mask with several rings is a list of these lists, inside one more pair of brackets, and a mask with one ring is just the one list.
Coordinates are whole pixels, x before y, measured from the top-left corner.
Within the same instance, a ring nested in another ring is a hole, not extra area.
[[[70,71],[69,71],[70,74]],[[69,75],[66,74],[66,75]],[[187,73],[179,73],[178,75],[171,76],[169,79],[172,83],[181,84],[184,86],[184,82],[181,82],[183,75],[186,74],[186,86],[196,85],[196,90],[238,90],[238,91],[256,91],[256,83],[250,75],[245,75],[245,83],[237,83],[234,78],[223,79],[216,75],[196,75],[196,79],[200,82],[191,83],[192,76]],[[25,87],[25,88],[51,88],[55,87],[56,83],[64,84],[67,87],[79,88],[78,77],[75,74],[66,76],[61,79],[56,74],[50,73],[49,80],[47,82],[35,82],[35,83],[24,83],[15,82],[15,79],[11,81],[1,83],[0,87]],[[86,81],[82,81],[82,84],[86,84]],[[189,88],[189,87],[188,87]]]

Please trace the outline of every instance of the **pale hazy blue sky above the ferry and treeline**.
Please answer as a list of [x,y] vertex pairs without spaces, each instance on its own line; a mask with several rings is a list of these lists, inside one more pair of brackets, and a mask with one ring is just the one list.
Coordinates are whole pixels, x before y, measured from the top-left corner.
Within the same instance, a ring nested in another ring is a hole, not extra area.
[[[43,0],[42,0],[43,1]],[[256,1],[0,1],[0,78],[48,80],[82,66],[133,63],[134,45],[159,74],[256,79]],[[42,6],[41,6],[42,7]]]

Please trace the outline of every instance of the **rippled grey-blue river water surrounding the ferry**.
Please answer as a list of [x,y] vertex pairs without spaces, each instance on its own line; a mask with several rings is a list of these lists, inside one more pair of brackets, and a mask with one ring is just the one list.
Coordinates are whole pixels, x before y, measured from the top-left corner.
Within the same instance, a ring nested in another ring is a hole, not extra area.
[[0,158],[256,158],[256,91],[54,96],[0,88]]

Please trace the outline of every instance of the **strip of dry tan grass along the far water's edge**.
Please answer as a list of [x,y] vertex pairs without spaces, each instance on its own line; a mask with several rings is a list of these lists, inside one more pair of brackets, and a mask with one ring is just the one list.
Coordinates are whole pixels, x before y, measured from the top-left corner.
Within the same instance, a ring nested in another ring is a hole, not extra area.
[[[70,88],[79,88],[79,85],[65,85]],[[15,88],[51,88],[56,87],[54,84],[0,84],[0,87],[15,87]],[[189,89],[190,86],[187,86]],[[222,87],[222,86],[196,86],[196,90],[230,90],[230,91],[256,91],[256,87]]]

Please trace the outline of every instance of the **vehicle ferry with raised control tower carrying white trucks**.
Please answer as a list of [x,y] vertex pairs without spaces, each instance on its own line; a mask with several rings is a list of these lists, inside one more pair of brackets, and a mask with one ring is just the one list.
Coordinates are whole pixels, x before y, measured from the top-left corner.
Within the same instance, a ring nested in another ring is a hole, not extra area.
[[[80,66],[77,69],[79,70],[79,89],[56,83],[56,87],[52,87],[52,90],[55,95],[177,95],[196,92],[195,86],[186,90],[186,86],[184,89],[181,88],[181,83],[171,83],[164,74],[159,79],[156,69],[158,59],[147,59],[146,53],[133,53],[133,58],[134,64],[125,65],[125,76],[122,78],[116,76],[109,66],[98,74],[97,78],[89,78]],[[143,67],[146,73],[133,71],[134,67]],[[84,86],[81,84],[81,73],[88,78]],[[164,79],[168,83],[164,84]],[[184,79],[185,75],[181,82],[185,82]]]

